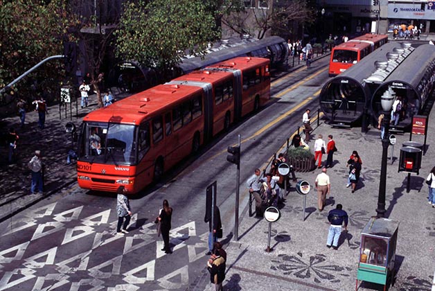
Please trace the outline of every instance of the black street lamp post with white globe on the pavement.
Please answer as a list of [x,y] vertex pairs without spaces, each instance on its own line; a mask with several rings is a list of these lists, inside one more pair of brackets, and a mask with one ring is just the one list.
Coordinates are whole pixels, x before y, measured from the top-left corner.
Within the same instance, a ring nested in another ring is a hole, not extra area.
[[384,136],[382,136],[382,161],[381,161],[381,175],[379,182],[379,194],[378,194],[378,218],[385,216],[385,189],[387,184],[387,155],[389,147],[389,129],[391,119],[391,107],[393,107],[396,94],[390,88],[384,92],[381,97],[381,106],[384,113],[382,119],[382,125],[384,126]]

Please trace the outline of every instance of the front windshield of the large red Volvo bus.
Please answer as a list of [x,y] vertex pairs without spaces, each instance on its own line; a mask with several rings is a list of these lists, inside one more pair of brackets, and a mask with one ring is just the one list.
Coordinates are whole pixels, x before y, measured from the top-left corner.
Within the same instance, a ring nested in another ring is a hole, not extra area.
[[85,122],[78,146],[78,159],[91,164],[134,165],[135,132],[134,125]]

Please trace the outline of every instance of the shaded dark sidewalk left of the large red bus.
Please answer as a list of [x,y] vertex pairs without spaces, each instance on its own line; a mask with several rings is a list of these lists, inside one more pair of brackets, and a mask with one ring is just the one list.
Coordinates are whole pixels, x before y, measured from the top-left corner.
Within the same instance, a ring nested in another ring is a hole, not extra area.
[[[61,113],[59,113],[59,105],[48,107],[44,130],[40,130],[37,125],[37,112],[27,112],[26,124],[23,128],[19,127],[20,121],[17,116],[1,119],[1,132],[8,132],[10,127],[14,127],[19,135],[19,141],[15,163],[12,165],[7,164],[8,148],[0,148],[0,179],[3,182],[0,188],[0,222],[56,193],[60,188],[76,182],[76,163],[66,165],[66,156],[71,149],[71,134],[66,134],[65,125],[72,122],[78,127],[83,116],[96,109],[96,95],[89,96],[89,102],[89,107],[81,109],[79,100],[78,118],[76,118],[74,102],[72,119],[69,105],[67,116],[65,107],[62,107]],[[30,194],[31,177],[27,164],[35,150],[42,151],[43,161],[46,164],[44,195]]]

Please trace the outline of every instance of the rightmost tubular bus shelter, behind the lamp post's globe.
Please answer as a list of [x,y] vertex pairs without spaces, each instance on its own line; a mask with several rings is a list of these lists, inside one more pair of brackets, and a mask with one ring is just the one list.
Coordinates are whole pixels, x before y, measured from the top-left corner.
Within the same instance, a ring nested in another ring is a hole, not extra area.
[[400,67],[404,69],[393,71],[376,89],[371,100],[371,110],[373,116],[379,116],[382,112],[380,98],[384,91],[392,89],[396,98],[402,101],[402,110],[398,124],[391,127],[393,130],[405,131],[411,126],[412,117],[421,112],[434,90],[435,46],[418,46]]

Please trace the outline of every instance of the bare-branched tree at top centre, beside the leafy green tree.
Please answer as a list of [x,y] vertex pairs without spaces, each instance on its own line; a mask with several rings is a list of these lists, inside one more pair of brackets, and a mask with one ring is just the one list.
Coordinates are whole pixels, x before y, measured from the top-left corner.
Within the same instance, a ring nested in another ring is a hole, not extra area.
[[[310,23],[314,19],[312,8],[305,0],[264,0],[259,1],[259,6],[260,9],[232,13],[222,22],[240,35],[256,35],[262,39],[269,31],[274,35],[288,35],[292,24]],[[249,21],[251,18],[254,21]]]

